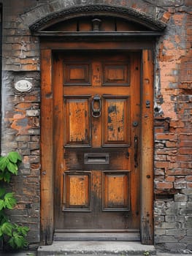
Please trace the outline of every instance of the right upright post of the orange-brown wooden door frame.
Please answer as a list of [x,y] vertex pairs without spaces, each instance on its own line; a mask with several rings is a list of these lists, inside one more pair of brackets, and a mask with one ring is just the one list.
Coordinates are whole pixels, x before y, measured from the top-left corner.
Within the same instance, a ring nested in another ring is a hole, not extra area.
[[[153,55],[142,51],[142,243],[153,244]],[[147,104],[147,101],[150,103]]]

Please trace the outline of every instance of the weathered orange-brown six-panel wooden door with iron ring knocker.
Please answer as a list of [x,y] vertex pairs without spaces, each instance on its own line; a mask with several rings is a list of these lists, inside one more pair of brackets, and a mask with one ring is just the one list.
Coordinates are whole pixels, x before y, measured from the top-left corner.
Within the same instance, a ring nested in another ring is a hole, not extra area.
[[140,54],[55,53],[53,81],[55,231],[139,233]]

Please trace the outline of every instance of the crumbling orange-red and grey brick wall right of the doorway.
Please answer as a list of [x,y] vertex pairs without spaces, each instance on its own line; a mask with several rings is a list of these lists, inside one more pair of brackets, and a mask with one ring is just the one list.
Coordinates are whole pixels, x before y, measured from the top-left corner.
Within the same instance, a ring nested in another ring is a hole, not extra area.
[[191,252],[192,2],[164,10],[155,70],[155,245]]

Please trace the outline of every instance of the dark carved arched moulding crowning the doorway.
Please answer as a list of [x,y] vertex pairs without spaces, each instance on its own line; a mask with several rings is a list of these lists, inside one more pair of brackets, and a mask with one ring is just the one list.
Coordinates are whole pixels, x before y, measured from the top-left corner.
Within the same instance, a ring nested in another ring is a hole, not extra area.
[[[166,28],[165,23],[145,12],[131,7],[121,7],[111,4],[91,4],[61,8],[55,12],[48,12],[46,15],[42,15],[41,18],[37,18],[37,20],[29,24],[29,28],[34,34],[43,35],[46,31],[50,31],[50,27],[54,29],[55,24],[72,20],[72,18],[82,18],[82,14],[84,18],[88,16],[94,18],[107,15],[108,17],[123,19],[127,23],[133,23],[136,26],[136,31],[153,31],[155,33],[161,32]],[[128,31],[129,29],[127,28],[125,30]]]

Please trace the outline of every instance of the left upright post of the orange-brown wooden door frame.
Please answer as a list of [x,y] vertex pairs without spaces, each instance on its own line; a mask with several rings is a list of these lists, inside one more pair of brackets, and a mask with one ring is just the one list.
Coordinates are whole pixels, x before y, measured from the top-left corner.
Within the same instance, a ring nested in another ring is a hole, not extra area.
[[[53,237],[53,88],[51,50],[42,50],[42,118],[41,118],[41,239],[51,244]],[[49,113],[47,116],[46,113]],[[48,138],[48,139],[47,139]]]

